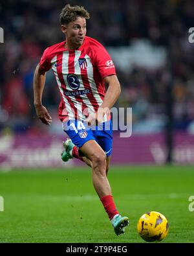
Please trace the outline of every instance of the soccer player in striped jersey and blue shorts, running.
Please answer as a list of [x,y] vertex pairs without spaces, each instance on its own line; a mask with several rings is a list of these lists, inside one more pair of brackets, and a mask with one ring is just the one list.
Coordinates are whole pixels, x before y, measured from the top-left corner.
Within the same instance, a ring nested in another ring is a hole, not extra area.
[[[89,13],[83,6],[66,5],[60,14],[65,41],[45,49],[34,73],[34,106],[45,124],[52,118],[41,99],[46,73],[52,69],[61,94],[59,119],[69,139],[63,161],[76,157],[92,168],[92,182],[116,235],[129,219],[114,204],[107,179],[112,153],[110,109],[120,95],[120,83],[109,54],[98,41],[85,36]],[[105,84],[107,91],[105,92]]]

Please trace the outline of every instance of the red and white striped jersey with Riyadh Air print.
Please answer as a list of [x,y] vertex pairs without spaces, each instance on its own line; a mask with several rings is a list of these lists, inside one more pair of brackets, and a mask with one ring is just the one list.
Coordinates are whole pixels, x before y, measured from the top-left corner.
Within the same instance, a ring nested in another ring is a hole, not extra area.
[[103,45],[88,36],[78,50],[65,49],[65,41],[48,47],[39,65],[43,71],[52,68],[54,72],[61,94],[59,119],[62,122],[84,120],[89,113],[96,112],[105,96],[103,78],[116,74]]

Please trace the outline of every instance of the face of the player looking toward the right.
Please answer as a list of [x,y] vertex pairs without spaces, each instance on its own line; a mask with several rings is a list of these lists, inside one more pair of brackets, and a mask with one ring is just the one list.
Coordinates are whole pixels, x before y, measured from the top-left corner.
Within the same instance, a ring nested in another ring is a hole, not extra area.
[[71,21],[68,25],[61,25],[61,30],[66,36],[67,47],[77,49],[82,45],[85,38],[85,18],[77,17],[75,21]]

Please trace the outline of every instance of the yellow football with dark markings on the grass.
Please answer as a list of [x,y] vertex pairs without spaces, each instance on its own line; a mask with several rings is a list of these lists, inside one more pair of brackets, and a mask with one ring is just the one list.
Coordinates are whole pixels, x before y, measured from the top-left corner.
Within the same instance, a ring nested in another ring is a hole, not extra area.
[[168,233],[167,218],[156,211],[149,211],[140,217],[137,225],[138,233],[147,242],[161,241]]

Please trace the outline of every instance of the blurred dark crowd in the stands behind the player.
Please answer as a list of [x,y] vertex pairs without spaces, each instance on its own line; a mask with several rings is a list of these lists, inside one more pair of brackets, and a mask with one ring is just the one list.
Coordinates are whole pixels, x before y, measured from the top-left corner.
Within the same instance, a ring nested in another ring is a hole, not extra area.
[[[133,108],[138,132],[163,130],[173,102],[174,128],[193,132],[194,1],[184,0],[6,0],[0,3],[0,131],[41,133],[47,130],[36,117],[33,75],[43,50],[63,41],[59,13],[67,3],[83,5],[90,12],[87,35],[105,47],[130,47],[135,39],[149,40],[167,52],[166,64],[158,69],[134,65],[130,71],[116,67],[122,86],[117,106]],[[47,73],[43,104],[58,119],[58,86]],[[59,127],[61,129],[61,126]],[[53,129],[55,132],[55,129]],[[193,132],[194,133],[194,132]]]

